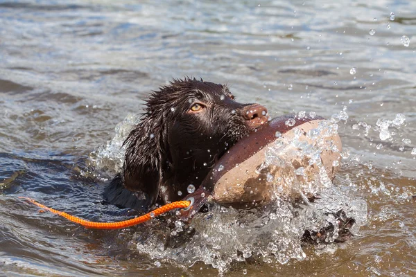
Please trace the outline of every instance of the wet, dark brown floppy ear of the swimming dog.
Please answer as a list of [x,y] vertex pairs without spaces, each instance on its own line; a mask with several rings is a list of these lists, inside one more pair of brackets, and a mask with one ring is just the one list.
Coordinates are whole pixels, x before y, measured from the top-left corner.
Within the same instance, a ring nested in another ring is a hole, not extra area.
[[156,202],[162,176],[163,144],[162,114],[148,112],[125,140],[125,160],[121,178],[125,188],[141,193],[150,206]]

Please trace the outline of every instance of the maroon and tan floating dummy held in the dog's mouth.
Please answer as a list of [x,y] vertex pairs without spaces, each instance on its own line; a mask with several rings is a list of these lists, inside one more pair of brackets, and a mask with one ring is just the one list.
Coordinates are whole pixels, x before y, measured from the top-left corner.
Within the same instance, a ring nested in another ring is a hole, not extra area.
[[315,116],[273,118],[241,139],[202,182],[220,204],[315,197],[340,167],[338,125]]

